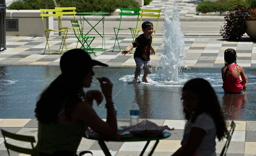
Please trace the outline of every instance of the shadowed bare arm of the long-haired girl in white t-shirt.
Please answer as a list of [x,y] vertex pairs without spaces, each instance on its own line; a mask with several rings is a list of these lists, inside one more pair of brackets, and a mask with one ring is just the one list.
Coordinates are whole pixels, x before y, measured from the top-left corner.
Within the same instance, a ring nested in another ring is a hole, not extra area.
[[172,156],[193,156],[205,134],[206,131],[202,128],[192,127],[186,145],[182,149],[178,149]]

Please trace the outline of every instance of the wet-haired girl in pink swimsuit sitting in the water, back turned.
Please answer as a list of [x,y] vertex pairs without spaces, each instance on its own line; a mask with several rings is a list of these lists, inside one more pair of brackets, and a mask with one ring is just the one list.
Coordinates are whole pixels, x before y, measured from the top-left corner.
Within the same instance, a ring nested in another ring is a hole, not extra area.
[[247,86],[248,78],[245,76],[244,69],[237,65],[236,51],[227,49],[224,52],[225,66],[221,69],[224,92],[226,94],[240,94],[242,89]]

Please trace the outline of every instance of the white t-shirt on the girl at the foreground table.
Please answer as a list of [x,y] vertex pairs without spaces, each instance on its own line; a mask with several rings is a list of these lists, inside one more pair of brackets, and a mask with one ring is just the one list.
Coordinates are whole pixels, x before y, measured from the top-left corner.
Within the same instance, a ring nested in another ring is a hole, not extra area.
[[199,145],[194,156],[216,156],[216,126],[213,118],[204,112],[197,116],[194,123],[191,123],[191,119],[189,119],[185,125],[183,140],[181,141],[182,147],[186,145],[192,127],[202,128],[206,131],[204,139]]

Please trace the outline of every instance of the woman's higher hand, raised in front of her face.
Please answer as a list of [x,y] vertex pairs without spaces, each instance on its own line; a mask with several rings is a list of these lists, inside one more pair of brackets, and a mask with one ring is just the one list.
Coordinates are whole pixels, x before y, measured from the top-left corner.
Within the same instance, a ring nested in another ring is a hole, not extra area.
[[103,95],[106,97],[112,97],[112,88],[113,84],[108,78],[102,77],[102,78],[97,78],[100,82],[100,87],[102,89]]

